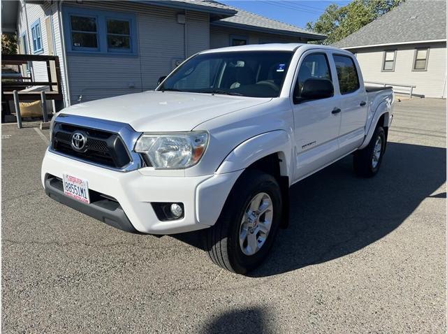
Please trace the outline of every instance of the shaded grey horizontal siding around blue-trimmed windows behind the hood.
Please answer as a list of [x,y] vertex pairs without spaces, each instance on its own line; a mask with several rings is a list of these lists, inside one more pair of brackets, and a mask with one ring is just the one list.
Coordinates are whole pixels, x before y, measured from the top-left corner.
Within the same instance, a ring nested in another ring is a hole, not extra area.
[[154,89],[159,77],[173,70],[175,61],[210,48],[209,16],[205,13],[186,12],[185,45],[184,24],[177,22],[177,14],[185,14],[184,10],[118,1],[85,1],[78,6],[135,13],[138,56],[68,55],[71,104],[78,103],[80,96],[82,101],[91,101]]

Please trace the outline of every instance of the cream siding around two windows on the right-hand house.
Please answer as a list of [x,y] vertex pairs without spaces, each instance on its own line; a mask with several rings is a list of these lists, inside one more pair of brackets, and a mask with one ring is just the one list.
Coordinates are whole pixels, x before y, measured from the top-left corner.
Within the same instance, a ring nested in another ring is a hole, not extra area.
[[[412,71],[415,48],[425,47],[430,48],[427,71]],[[393,72],[382,71],[384,50],[397,50]],[[444,92],[446,82],[445,42],[391,45],[350,51],[356,52],[365,81],[415,85],[414,94],[425,95],[426,97],[446,97]]]

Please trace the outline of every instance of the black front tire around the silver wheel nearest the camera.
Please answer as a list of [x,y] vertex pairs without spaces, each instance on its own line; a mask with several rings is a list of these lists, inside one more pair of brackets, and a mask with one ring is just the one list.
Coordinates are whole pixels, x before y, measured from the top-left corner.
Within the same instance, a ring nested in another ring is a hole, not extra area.
[[[260,193],[268,194],[272,200],[272,223],[262,247],[255,254],[247,256],[240,246],[240,226],[249,203]],[[212,261],[238,274],[246,274],[258,267],[273,245],[281,209],[281,189],[277,180],[259,170],[245,170],[230,192],[216,224],[205,230],[205,247]]]

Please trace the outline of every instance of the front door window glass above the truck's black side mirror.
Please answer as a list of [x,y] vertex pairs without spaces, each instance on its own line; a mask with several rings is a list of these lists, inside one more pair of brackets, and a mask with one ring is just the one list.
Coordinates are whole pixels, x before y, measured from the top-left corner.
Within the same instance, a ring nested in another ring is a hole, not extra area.
[[300,98],[302,86],[307,79],[327,79],[332,82],[328,58],[323,53],[307,55],[302,61],[293,97]]

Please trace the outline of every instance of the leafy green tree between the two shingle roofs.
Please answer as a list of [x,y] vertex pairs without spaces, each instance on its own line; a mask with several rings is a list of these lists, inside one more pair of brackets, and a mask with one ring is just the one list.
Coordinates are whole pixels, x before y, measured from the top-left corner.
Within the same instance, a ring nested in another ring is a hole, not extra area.
[[399,6],[404,0],[353,0],[346,6],[331,4],[316,22],[307,22],[306,29],[328,36],[318,44],[341,41],[366,24]]

